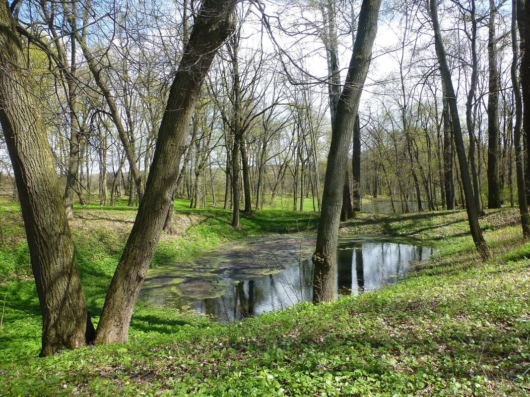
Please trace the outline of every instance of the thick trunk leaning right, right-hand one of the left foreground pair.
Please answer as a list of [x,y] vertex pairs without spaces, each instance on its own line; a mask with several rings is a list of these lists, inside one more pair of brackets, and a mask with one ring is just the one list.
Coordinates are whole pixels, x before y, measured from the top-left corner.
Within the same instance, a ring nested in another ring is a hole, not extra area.
[[96,342],[128,339],[140,287],[171,202],[193,109],[218,48],[234,29],[235,0],[205,0],[184,49],[156,141],[145,193],[105,298]]

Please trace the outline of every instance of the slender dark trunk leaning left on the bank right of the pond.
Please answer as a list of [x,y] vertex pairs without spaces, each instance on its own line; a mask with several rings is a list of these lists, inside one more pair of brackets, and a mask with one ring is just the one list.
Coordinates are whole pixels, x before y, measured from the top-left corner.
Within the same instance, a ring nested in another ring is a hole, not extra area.
[[467,168],[467,159],[465,156],[464,139],[462,137],[462,128],[460,126],[460,119],[458,118],[458,107],[456,104],[456,94],[451,80],[451,72],[447,66],[447,58],[445,55],[444,44],[441,39],[440,25],[438,23],[438,11],[436,0],[429,0],[429,12],[432,20],[432,30],[434,31],[436,56],[440,67],[440,75],[442,83],[447,93],[447,102],[449,105],[449,112],[451,113],[451,123],[453,125],[453,134],[455,138],[456,154],[458,156],[458,164],[460,165],[460,175],[462,178],[462,185],[464,188],[464,195],[466,200],[467,219],[471,229],[471,236],[475,243],[476,250],[479,252],[483,260],[490,257],[490,250],[487,243],[482,236],[482,230],[479,225],[479,218],[476,213],[475,200],[473,197],[473,186],[471,185],[471,176],[469,168]]

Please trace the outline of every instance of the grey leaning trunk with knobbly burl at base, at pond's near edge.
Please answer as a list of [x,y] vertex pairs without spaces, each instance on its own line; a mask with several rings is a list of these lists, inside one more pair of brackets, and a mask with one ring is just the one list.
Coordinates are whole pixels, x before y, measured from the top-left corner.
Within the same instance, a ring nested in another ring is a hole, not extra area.
[[316,249],[312,257],[315,265],[313,302],[335,299],[335,259],[342,206],[342,187],[346,176],[346,161],[355,117],[372,57],[380,6],[381,0],[363,0],[361,5],[357,38],[351,55],[348,76],[340,96],[335,125],[332,129],[322,198],[322,215],[316,238]]

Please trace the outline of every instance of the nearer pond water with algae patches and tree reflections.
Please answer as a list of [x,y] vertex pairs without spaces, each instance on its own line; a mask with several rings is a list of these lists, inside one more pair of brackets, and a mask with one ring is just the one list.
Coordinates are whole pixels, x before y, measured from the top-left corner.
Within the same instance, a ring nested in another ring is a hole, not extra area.
[[[149,270],[139,299],[237,321],[312,301],[315,236],[268,234],[229,243],[197,258]],[[372,291],[407,276],[434,248],[341,236],[337,295]]]

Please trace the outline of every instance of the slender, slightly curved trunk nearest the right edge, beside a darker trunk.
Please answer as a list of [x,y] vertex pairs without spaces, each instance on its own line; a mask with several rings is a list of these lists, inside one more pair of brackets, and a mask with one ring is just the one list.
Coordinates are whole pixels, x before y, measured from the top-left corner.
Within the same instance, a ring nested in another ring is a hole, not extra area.
[[515,166],[517,173],[517,197],[519,201],[519,213],[521,215],[521,225],[523,228],[523,237],[530,238],[530,214],[528,213],[528,204],[526,201],[525,172],[523,161],[523,149],[521,146],[521,119],[523,116],[523,103],[521,98],[519,80],[517,78],[517,64],[519,62],[519,49],[517,46],[517,0],[511,1],[511,48],[513,58],[511,60],[511,82],[514,85],[515,96],[515,125],[514,125],[514,144],[515,144]]

